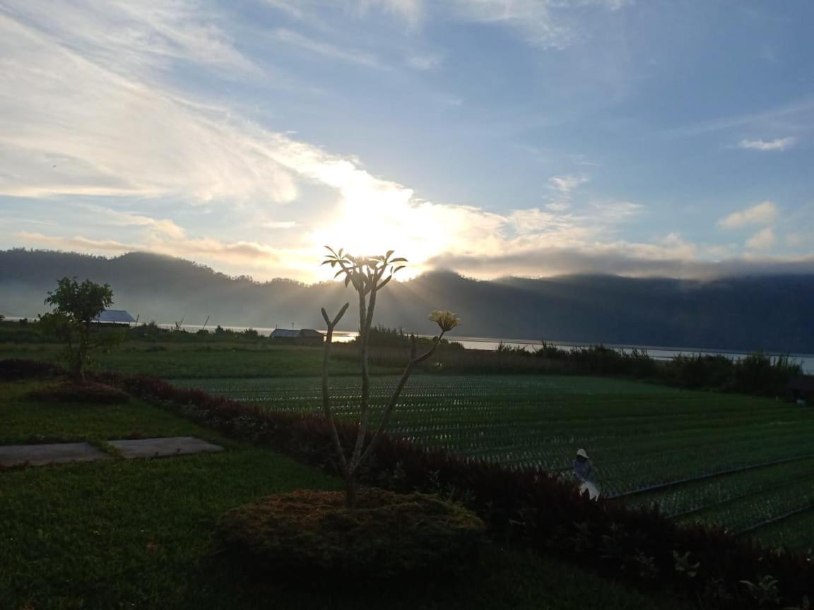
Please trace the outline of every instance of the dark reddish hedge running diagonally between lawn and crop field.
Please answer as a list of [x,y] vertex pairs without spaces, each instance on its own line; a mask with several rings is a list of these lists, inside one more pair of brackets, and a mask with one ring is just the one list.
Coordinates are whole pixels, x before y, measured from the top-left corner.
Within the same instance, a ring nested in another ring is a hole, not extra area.
[[[39,364],[31,366],[39,374]],[[15,367],[20,371],[19,362]],[[222,434],[336,471],[328,425],[320,416],[269,412],[151,377],[97,379]],[[352,426],[340,425],[339,433],[350,446]],[[803,607],[806,596],[814,599],[811,556],[768,551],[702,525],[678,526],[655,509],[591,502],[571,482],[538,468],[510,469],[384,438],[364,480],[449,495],[477,512],[499,542],[554,551],[644,586],[684,590],[705,608]]]

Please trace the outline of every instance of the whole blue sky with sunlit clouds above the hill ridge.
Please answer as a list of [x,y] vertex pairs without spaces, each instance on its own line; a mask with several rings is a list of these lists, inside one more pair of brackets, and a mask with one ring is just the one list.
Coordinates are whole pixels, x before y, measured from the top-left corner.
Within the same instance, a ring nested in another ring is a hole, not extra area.
[[[0,249],[814,272],[810,0],[0,0]],[[326,275],[328,273],[329,275]]]

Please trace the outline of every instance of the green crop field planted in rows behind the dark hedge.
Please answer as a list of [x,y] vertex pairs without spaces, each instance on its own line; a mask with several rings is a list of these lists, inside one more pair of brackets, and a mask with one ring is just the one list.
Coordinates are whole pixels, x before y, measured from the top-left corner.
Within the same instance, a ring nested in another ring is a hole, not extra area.
[[[382,407],[396,377],[374,377]],[[318,412],[318,378],[176,380],[275,411]],[[358,381],[331,382],[340,416]],[[658,503],[770,547],[814,547],[814,408],[635,381],[554,376],[415,376],[392,434],[427,447],[569,477],[584,447],[604,495]]]

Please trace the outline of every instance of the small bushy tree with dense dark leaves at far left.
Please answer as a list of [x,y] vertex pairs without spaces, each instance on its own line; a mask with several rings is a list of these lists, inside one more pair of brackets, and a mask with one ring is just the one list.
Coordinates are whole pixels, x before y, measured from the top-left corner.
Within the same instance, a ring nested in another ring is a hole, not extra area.
[[40,316],[40,324],[65,343],[68,371],[73,381],[84,383],[90,351],[112,338],[109,334],[92,337],[91,324],[113,303],[113,291],[107,284],[90,280],[80,284],[76,277],[63,277],[57,281],[56,290],[49,291],[45,302],[54,309]]

